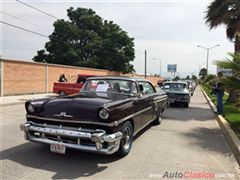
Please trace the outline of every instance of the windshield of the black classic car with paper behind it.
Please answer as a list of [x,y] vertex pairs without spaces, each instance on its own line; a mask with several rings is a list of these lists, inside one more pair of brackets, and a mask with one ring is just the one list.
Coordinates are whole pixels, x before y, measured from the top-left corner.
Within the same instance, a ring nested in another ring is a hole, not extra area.
[[133,81],[116,79],[88,80],[81,92],[112,93],[112,94],[137,94],[137,86]]

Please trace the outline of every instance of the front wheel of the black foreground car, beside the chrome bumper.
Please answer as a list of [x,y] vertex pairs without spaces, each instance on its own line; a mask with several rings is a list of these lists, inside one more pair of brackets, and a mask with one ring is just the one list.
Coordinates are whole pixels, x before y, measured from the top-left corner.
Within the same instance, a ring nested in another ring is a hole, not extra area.
[[123,134],[123,137],[120,141],[120,146],[119,150],[117,151],[117,155],[120,157],[124,157],[130,152],[132,148],[133,127],[131,122],[129,121],[125,122],[121,128],[121,132]]

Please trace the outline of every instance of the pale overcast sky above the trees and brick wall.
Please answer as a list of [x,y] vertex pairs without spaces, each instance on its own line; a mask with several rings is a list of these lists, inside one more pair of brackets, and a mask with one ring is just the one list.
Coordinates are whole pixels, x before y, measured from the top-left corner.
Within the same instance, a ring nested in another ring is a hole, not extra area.
[[[105,20],[112,20],[134,38],[137,73],[144,73],[144,51],[147,51],[147,73],[171,76],[167,64],[177,64],[177,75],[198,75],[206,67],[207,51],[197,47],[220,46],[210,50],[209,72],[216,73],[214,60],[228,57],[234,45],[226,38],[225,27],[210,30],[204,17],[211,0],[105,0],[105,1],[33,1],[37,7],[59,19],[68,20],[69,7],[91,8]],[[56,19],[29,8],[15,0],[1,1],[1,21],[21,26],[44,35],[53,32]],[[15,17],[15,18],[14,18]],[[16,17],[18,19],[16,19]],[[24,20],[24,21],[23,21]],[[3,59],[32,61],[48,38],[0,24]],[[161,68],[160,68],[161,67]]]

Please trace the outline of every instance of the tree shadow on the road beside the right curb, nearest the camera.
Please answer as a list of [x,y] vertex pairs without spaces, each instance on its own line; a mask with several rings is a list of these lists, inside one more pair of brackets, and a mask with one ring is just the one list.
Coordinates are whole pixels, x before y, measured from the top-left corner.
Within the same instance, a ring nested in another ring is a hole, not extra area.
[[189,143],[198,146],[204,151],[221,156],[231,156],[231,150],[226,146],[224,135],[220,128],[198,127],[191,131],[183,132],[181,135],[189,138]]

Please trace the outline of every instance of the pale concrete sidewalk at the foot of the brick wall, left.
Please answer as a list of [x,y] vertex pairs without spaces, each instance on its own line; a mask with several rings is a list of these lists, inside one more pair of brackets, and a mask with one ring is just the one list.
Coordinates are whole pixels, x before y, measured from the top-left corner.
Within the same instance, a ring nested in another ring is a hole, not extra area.
[[14,104],[22,104],[30,99],[41,99],[58,96],[54,93],[44,93],[44,94],[28,94],[28,95],[16,95],[16,96],[3,96],[0,97],[0,106],[8,106]]

